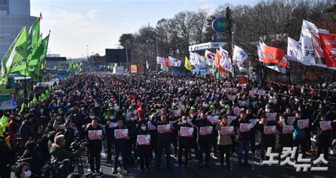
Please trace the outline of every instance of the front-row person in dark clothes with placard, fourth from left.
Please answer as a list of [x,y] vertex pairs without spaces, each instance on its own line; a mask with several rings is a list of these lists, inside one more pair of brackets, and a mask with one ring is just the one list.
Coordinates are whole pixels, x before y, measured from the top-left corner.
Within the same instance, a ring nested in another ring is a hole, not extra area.
[[[170,165],[170,133],[172,130],[170,129],[169,121],[167,120],[167,116],[162,115],[160,121],[153,119],[151,123],[157,127],[158,135],[157,135],[157,170],[161,170],[161,155],[164,150],[167,159],[167,169],[172,170]],[[169,126],[169,128],[168,128]],[[161,129],[162,127],[162,129]]]

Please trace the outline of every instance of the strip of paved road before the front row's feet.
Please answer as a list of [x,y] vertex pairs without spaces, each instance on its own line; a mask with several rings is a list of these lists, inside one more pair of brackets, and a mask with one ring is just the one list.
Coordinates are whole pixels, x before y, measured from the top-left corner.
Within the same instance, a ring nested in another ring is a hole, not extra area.
[[[105,144],[104,144],[105,145]],[[105,147],[106,148],[106,147]],[[151,172],[140,172],[140,163],[136,162],[135,166],[130,167],[127,175],[112,174],[112,165],[106,163],[105,153],[101,153],[102,161],[101,168],[104,173],[104,177],[336,177],[336,157],[330,158],[330,165],[327,172],[296,172],[294,167],[280,167],[279,165],[256,165],[253,162],[257,161],[254,156],[251,157],[251,167],[238,167],[237,157],[233,157],[233,170],[228,170],[226,167],[220,167],[215,165],[219,160],[211,158],[210,168],[200,168],[195,158],[191,160],[188,170],[178,170],[173,166],[173,170],[167,170],[162,167],[161,171],[152,167]],[[165,158],[162,156],[162,166],[165,165]],[[172,159],[173,163],[177,163],[177,160]],[[87,169],[88,164],[84,164]]]

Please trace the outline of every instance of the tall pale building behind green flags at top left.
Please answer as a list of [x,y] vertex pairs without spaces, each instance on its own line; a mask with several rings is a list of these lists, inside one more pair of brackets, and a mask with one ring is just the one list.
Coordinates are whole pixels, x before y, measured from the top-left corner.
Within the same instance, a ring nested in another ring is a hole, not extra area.
[[0,60],[25,23],[29,29],[36,19],[30,16],[30,0],[0,0]]

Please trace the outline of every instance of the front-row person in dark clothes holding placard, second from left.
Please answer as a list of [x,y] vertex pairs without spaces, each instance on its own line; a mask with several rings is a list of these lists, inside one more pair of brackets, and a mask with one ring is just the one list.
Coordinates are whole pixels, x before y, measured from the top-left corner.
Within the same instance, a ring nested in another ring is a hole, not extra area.
[[127,162],[127,150],[128,150],[128,139],[130,137],[128,135],[121,136],[116,135],[116,130],[127,129],[127,127],[123,124],[123,119],[118,119],[118,126],[113,128],[113,138],[114,138],[114,163],[113,163],[113,174],[118,173],[119,166],[119,155],[121,153],[121,158],[123,160],[123,170],[127,170],[128,162]]

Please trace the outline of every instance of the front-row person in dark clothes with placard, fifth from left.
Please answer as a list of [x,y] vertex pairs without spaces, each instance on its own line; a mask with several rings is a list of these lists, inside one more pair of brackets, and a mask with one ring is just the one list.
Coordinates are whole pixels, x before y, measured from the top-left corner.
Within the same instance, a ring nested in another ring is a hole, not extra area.
[[[190,127],[192,128],[191,124],[188,124],[188,117],[183,116],[181,119],[178,119],[177,121],[174,121],[172,124],[173,127],[177,131],[181,131],[181,126],[184,127]],[[189,151],[191,149],[191,145],[193,142],[193,137],[188,137],[188,136],[181,136],[181,133],[179,133],[179,157],[178,157],[178,162],[179,162],[179,170],[181,170],[182,166],[182,155],[184,153],[184,167],[186,169],[188,168],[188,160],[189,160]]]

